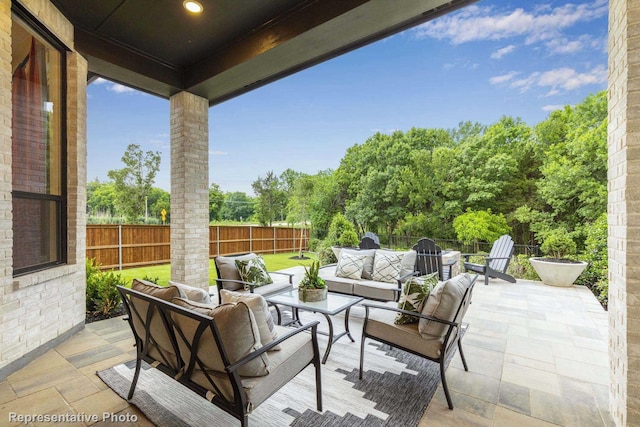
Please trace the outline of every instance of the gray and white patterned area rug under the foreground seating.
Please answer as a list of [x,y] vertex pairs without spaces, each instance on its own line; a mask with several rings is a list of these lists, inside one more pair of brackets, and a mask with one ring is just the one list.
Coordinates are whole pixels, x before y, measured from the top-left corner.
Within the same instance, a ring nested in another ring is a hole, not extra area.
[[[337,323],[337,322],[336,322]],[[352,327],[352,331],[354,328]],[[366,341],[358,379],[360,340],[336,342],[322,365],[322,413],[315,411],[315,375],[307,367],[249,416],[252,426],[417,426],[440,383],[436,363]],[[324,351],[326,338],[319,337]],[[98,372],[126,399],[135,361]],[[131,403],[157,426],[238,426],[239,421],[157,369],[144,366]]]

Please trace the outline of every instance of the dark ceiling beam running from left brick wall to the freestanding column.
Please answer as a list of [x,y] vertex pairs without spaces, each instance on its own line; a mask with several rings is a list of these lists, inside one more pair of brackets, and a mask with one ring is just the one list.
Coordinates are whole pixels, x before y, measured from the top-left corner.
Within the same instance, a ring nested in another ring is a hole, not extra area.
[[[105,40],[76,27],[75,48],[89,60],[89,71],[111,80],[155,93],[149,85],[161,88],[157,93],[171,96],[184,90],[180,70],[126,46]],[[155,83],[154,83],[155,82]]]

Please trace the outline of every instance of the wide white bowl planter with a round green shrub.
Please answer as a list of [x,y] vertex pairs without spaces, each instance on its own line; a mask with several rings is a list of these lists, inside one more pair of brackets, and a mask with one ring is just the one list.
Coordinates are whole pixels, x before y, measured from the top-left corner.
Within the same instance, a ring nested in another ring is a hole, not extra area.
[[582,274],[587,263],[568,258],[575,254],[576,244],[562,229],[556,229],[545,236],[540,249],[547,257],[529,258],[542,283],[549,286],[572,286]]

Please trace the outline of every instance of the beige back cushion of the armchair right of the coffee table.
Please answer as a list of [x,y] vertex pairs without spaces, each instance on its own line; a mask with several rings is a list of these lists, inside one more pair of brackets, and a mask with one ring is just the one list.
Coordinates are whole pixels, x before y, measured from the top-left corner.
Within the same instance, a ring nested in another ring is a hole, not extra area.
[[[459,274],[446,282],[440,282],[431,291],[422,309],[422,314],[440,320],[454,321],[456,311],[462,302],[464,293],[471,283],[468,273]],[[463,312],[466,307],[463,307]],[[447,331],[447,325],[431,320],[420,319],[418,331],[424,339],[441,340]]]

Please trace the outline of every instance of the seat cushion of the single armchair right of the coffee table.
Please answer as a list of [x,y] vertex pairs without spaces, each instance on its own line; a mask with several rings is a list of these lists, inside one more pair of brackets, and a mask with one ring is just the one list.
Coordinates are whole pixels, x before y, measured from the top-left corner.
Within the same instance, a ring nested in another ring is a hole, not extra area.
[[370,308],[369,319],[367,320],[367,334],[432,359],[440,357],[441,343],[437,340],[423,339],[420,332],[418,332],[417,323],[396,325],[394,323],[395,318],[395,311]]

